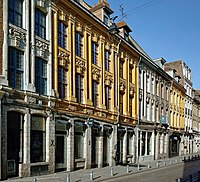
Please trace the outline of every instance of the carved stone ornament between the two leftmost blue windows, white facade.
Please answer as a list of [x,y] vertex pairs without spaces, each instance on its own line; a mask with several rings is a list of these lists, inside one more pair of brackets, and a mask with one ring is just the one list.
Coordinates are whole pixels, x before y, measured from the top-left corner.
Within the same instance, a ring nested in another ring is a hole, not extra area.
[[25,49],[26,46],[26,31],[15,27],[15,26],[9,26],[9,45],[13,47],[18,47]]

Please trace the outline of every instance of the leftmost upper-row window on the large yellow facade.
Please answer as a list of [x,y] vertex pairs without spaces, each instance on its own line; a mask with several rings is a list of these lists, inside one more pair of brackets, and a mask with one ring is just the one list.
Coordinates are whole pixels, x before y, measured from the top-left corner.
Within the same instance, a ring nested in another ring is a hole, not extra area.
[[67,49],[67,27],[64,23],[58,21],[58,46]]

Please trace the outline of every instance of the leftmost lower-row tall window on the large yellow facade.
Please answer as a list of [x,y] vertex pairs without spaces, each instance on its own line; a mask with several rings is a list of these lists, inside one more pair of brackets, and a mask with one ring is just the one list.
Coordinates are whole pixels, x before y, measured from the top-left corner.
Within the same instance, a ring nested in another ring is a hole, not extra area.
[[58,67],[58,93],[61,99],[67,97],[67,70],[61,66]]

